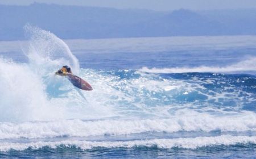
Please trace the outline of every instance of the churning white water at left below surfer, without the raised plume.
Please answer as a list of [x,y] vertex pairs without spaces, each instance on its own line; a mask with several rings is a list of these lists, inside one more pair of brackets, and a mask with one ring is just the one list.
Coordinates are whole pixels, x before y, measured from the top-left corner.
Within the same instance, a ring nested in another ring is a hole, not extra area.
[[54,76],[54,72],[44,77],[30,65],[2,58],[0,71],[0,122],[95,119],[113,115],[110,108],[88,106],[79,90],[67,79]]

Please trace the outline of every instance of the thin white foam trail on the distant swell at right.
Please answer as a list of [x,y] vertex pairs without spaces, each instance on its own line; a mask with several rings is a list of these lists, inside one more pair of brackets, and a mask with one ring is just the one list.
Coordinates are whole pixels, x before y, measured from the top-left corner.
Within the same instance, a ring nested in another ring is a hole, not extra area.
[[195,68],[146,68],[139,69],[141,72],[148,73],[188,73],[188,72],[213,72],[213,73],[245,73],[256,71],[256,58],[240,61],[237,64],[230,66],[216,67],[216,66],[199,66]]

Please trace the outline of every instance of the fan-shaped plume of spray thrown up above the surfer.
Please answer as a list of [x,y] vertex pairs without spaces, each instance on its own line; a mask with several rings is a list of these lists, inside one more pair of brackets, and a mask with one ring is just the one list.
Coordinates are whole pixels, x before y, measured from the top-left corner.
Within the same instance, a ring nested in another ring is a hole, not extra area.
[[29,39],[28,49],[24,52],[29,64],[40,68],[42,74],[49,73],[63,65],[69,65],[73,73],[79,73],[79,61],[72,54],[67,44],[49,31],[24,26]]

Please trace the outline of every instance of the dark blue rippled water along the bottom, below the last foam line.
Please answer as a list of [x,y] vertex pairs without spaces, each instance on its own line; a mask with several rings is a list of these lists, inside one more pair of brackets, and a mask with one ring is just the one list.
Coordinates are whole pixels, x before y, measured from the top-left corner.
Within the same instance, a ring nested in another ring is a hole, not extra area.
[[159,149],[156,147],[93,148],[76,147],[56,149],[27,149],[22,152],[1,153],[3,158],[255,158],[256,145],[205,147],[198,149]]

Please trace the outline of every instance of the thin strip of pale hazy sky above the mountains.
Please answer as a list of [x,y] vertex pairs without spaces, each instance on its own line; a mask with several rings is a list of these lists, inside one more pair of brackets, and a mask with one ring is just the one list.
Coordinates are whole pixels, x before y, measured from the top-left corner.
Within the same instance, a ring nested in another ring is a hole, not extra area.
[[191,10],[256,8],[256,0],[0,0],[0,4],[5,5],[29,5],[33,2],[158,11],[180,8]]

